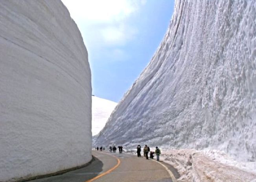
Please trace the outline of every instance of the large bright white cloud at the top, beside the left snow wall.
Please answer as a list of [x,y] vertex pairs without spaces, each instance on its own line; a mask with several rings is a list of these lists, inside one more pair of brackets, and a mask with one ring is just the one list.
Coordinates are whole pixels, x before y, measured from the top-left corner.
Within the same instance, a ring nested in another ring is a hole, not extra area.
[[[97,49],[120,46],[136,38],[138,30],[131,17],[146,0],[62,0],[75,20],[90,53]],[[135,16],[132,16],[135,15]],[[90,54],[89,54],[90,55]],[[119,54],[122,56],[124,54]]]

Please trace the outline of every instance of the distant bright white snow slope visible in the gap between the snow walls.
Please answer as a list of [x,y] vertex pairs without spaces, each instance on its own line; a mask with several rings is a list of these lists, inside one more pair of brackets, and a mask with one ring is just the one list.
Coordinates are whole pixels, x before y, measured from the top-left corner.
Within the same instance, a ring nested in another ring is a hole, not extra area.
[[92,135],[97,135],[105,126],[117,103],[92,96]]

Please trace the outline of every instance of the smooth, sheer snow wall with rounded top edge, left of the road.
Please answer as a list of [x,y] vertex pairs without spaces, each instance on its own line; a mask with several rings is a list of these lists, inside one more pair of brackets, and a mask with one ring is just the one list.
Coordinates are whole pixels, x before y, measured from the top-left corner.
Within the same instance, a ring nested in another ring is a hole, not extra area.
[[0,3],[0,181],[91,160],[91,74],[60,0]]

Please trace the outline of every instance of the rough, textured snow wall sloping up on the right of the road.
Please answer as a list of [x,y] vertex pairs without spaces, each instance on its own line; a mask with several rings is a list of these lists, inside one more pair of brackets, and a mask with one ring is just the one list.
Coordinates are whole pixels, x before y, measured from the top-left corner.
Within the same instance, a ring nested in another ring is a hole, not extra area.
[[151,62],[94,145],[218,149],[256,158],[256,1],[176,0]]

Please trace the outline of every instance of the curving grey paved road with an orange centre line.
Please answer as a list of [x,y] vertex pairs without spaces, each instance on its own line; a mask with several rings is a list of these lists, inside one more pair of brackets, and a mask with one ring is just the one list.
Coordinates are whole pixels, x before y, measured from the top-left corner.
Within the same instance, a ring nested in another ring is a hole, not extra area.
[[[111,155],[110,155],[111,154]],[[174,182],[164,166],[144,157],[130,154],[92,151],[94,160],[90,165],[48,178],[33,180],[31,182]],[[119,162],[118,162],[119,160]],[[117,165],[119,163],[119,165]],[[177,171],[168,164],[164,164],[173,171],[176,178]],[[113,167],[115,167],[113,169]]]

